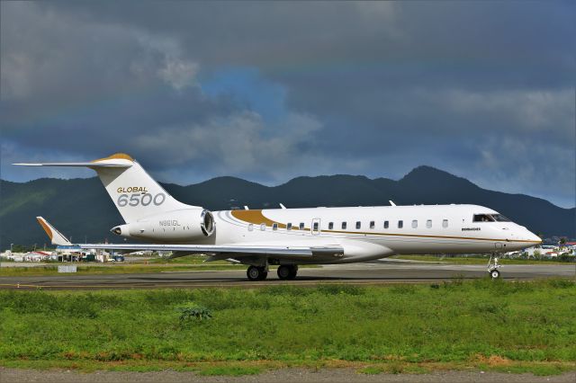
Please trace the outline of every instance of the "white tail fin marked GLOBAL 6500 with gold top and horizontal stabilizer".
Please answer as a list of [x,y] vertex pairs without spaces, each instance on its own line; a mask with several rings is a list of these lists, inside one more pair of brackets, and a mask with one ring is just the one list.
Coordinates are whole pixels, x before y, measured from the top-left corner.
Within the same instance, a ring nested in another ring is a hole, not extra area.
[[115,155],[86,163],[14,164],[24,166],[86,166],[102,181],[126,223],[154,214],[190,208],[175,200],[130,156]]

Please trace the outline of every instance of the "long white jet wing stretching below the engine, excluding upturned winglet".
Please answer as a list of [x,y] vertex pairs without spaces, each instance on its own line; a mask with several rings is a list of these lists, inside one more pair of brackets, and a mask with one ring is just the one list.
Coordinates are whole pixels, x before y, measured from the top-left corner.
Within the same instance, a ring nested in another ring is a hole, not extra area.
[[153,244],[82,244],[83,249],[103,250],[151,250],[178,254],[210,254],[218,258],[243,256],[274,256],[277,258],[341,257],[340,245],[281,246],[281,245],[153,245]]

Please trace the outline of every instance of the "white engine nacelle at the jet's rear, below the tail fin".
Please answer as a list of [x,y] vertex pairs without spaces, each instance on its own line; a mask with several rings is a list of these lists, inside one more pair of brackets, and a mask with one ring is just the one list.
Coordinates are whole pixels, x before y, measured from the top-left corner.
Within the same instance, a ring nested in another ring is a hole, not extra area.
[[118,236],[170,242],[197,241],[211,236],[216,225],[206,209],[182,209],[141,218],[136,222],[112,227]]

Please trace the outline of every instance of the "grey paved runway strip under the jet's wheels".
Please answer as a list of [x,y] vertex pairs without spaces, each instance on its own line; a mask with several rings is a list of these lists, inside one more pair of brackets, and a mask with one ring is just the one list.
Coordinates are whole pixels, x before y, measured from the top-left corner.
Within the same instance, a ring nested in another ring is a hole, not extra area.
[[[574,264],[527,264],[507,265],[500,269],[506,280],[533,280],[538,278],[574,278]],[[329,283],[388,284],[401,282],[448,281],[453,278],[484,278],[487,275],[484,265],[456,265],[446,263],[410,263],[397,261],[377,261],[374,263],[352,263],[326,265],[320,268],[301,268],[294,281],[280,281],[271,271],[266,281],[247,281],[246,272],[199,271],[199,272],[157,272],[146,274],[104,274],[104,275],[55,275],[0,277],[3,289],[140,289],[140,288],[201,288],[232,287],[246,288],[279,284],[316,285]]]

